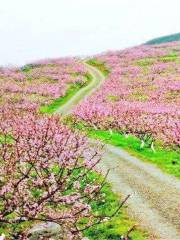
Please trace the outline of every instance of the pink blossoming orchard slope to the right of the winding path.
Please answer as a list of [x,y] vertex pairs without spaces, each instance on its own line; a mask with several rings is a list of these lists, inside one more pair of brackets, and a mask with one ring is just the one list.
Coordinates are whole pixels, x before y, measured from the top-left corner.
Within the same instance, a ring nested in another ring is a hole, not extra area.
[[110,73],[77,106],[78,118],[99,129],[134,135],[142,147],[180,145],[180,42],[108,52],[89,63],[104,64]]

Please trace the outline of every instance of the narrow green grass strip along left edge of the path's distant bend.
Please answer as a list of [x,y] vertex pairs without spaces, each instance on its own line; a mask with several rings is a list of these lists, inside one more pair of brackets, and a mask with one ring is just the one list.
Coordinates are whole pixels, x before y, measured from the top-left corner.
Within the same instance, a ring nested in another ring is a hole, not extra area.
[[86,74],[86,82],[84,84],[81,83],[71,83],[69,84],[69,88],[65,94],[65,96],[56,98],[49,105],[43,105],[40,107],[41,113],[54,113],[60,106],[64,105],[69,99],[71,99],[81,88],[87,86],[89,82],[92,80],[91,75]]

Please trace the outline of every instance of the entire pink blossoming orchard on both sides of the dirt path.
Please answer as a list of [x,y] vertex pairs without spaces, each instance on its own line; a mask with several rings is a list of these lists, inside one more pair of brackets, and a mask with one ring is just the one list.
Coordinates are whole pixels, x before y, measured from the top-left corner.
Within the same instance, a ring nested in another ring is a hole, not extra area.
[[[118,144],[133,135],[142,148],[155,152],[155,143],[177,150],[180,43],[109,52],[89,63],[106,80],[74,110],[80,123],[93,126],[101,138],[105,130],[104,137],[110,133]],[[59,116],[42,114],[54,112],[70,90],[74,94],[88,81],[76,58],[0,68],[0,235],[7,239],[28,239],[39,222],[59,224],[59,239],[119,239],[134,224],[119,212],[125,201],[119,203],[97,171],[101,147]],[[176,155],[170,161],[177,164]],[[145,235],[132,233],[138,240]]]

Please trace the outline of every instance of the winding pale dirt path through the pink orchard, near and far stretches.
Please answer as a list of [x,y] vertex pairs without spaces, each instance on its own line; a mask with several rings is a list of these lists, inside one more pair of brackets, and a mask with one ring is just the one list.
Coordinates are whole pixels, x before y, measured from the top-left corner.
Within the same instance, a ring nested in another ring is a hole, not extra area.
[[[69,114],[104,81],[97,69],[87,64],[86,67],[93,81],[58,110],[62,115]],[[128,212],[150,232],[152,239],[180,240],[180,180],[111,145],[105,146],[99,167],[104,173],[111,169],[108,181],[115,192],[124,197],[131,194]]]

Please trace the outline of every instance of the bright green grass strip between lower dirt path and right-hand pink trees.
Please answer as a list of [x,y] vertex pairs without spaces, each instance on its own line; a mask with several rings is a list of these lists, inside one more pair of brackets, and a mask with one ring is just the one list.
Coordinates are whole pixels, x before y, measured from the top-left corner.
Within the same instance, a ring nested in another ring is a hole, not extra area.
[[[71,125],[71,119],[68,124]],[[135,136],[125,136],[117,131],[110,133],[107,130],[95,130],[87,126],[84,122],[78,122],[75,126],[81,131],[87,133],[88,137],[100,139],[105,143],[121,147],[131,155],[140,158],[146,162],[151,162],[161,168],[164,172],[180,178],[180,154],[177,151],[163,148],[161,145],[155,145],[155,152],[148,146],[140,148],[141,141]]]

